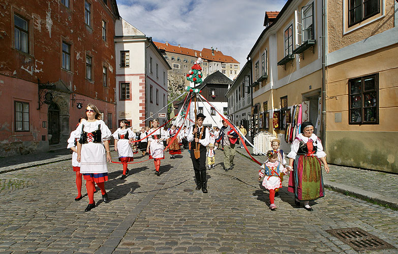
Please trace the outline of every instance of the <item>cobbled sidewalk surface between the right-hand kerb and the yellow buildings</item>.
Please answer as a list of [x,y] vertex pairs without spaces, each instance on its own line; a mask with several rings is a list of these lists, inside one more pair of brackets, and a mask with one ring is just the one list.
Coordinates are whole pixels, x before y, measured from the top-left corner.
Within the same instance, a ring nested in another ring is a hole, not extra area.
[[[253,148],[249,148],[252,151]],[[248,156],[246,150],[237,148],[237,151]],[[254,156],[259,162],[265,161],[265,156]],[[288,158],[286,158],[288,162]],[[329,165],[329,174],[324,173],[324,180],[360,188],[388,197],[398,197],[398,175],[380,171],[350,168]]]

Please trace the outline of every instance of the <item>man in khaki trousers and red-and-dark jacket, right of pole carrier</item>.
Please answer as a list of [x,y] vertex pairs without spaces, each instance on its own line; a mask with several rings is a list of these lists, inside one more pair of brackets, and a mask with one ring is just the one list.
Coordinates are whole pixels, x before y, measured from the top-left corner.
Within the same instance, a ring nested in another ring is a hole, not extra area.
[[224,149],[224,170],[228,171],[233,169],[233,158],[236,152],[235,144],[238,144],[239,135],[231,129],[228,122],[224,120],[222,122],[223,126],[216,144],[220,143]]

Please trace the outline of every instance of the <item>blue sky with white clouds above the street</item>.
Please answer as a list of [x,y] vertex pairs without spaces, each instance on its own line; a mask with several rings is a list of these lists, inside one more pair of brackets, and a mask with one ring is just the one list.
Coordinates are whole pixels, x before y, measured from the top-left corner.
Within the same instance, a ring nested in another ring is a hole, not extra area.
[[120,16],[154,41],[218,48],[241,63],[264,29],[265,11],[286,0],[117,0]]

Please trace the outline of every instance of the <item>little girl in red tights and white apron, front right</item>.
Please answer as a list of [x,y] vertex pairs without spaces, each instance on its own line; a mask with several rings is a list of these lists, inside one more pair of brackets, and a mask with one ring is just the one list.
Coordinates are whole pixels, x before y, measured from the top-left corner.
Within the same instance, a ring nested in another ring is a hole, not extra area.
[[259,171],[258,180],[264,177],[262,185],[269,190],[269,208],[271,210],[277,209],[274,204],[275,189],[282,187],[281,173],[288,173],[290,169],[284,167],[282,163],[278,161],[278,151],[269,150],[267,152],[268,160],[261,165],[261,170]]

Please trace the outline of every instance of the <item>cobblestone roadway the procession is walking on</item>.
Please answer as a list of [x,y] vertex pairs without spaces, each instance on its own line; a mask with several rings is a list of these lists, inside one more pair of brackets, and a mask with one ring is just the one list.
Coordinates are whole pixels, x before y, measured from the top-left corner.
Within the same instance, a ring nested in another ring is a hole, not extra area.
[[163,160],[159,177],[152,160],[130,166],[124,180],[121,166],[108,164],[110,202],[99,191],[89,212],[86,196],[74,201],[70,161],[1,174],[2,181],[29,184],[0,196],[0,253],[356,253],[325,232],[349,227],[398,247],[397,211],[326,190],[308,212],[286,187],[271,211],[258,165],[237,154],[225,172],[221,155],[208,171],[208,194],[195,190],[187,151]]

